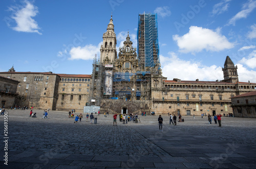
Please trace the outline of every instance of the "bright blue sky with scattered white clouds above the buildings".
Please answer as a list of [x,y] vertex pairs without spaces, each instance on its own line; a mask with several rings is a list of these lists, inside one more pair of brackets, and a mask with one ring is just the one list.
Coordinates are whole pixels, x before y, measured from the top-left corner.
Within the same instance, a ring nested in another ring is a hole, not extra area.
[[[256,1],[0,1],[0,71],[92,73],[111,13],[117,49],[138,14],[158,14],[163,76],[222,80],[228,55],[239,80],[256,83]],[[118,51],[117,51],[118,52]]]

